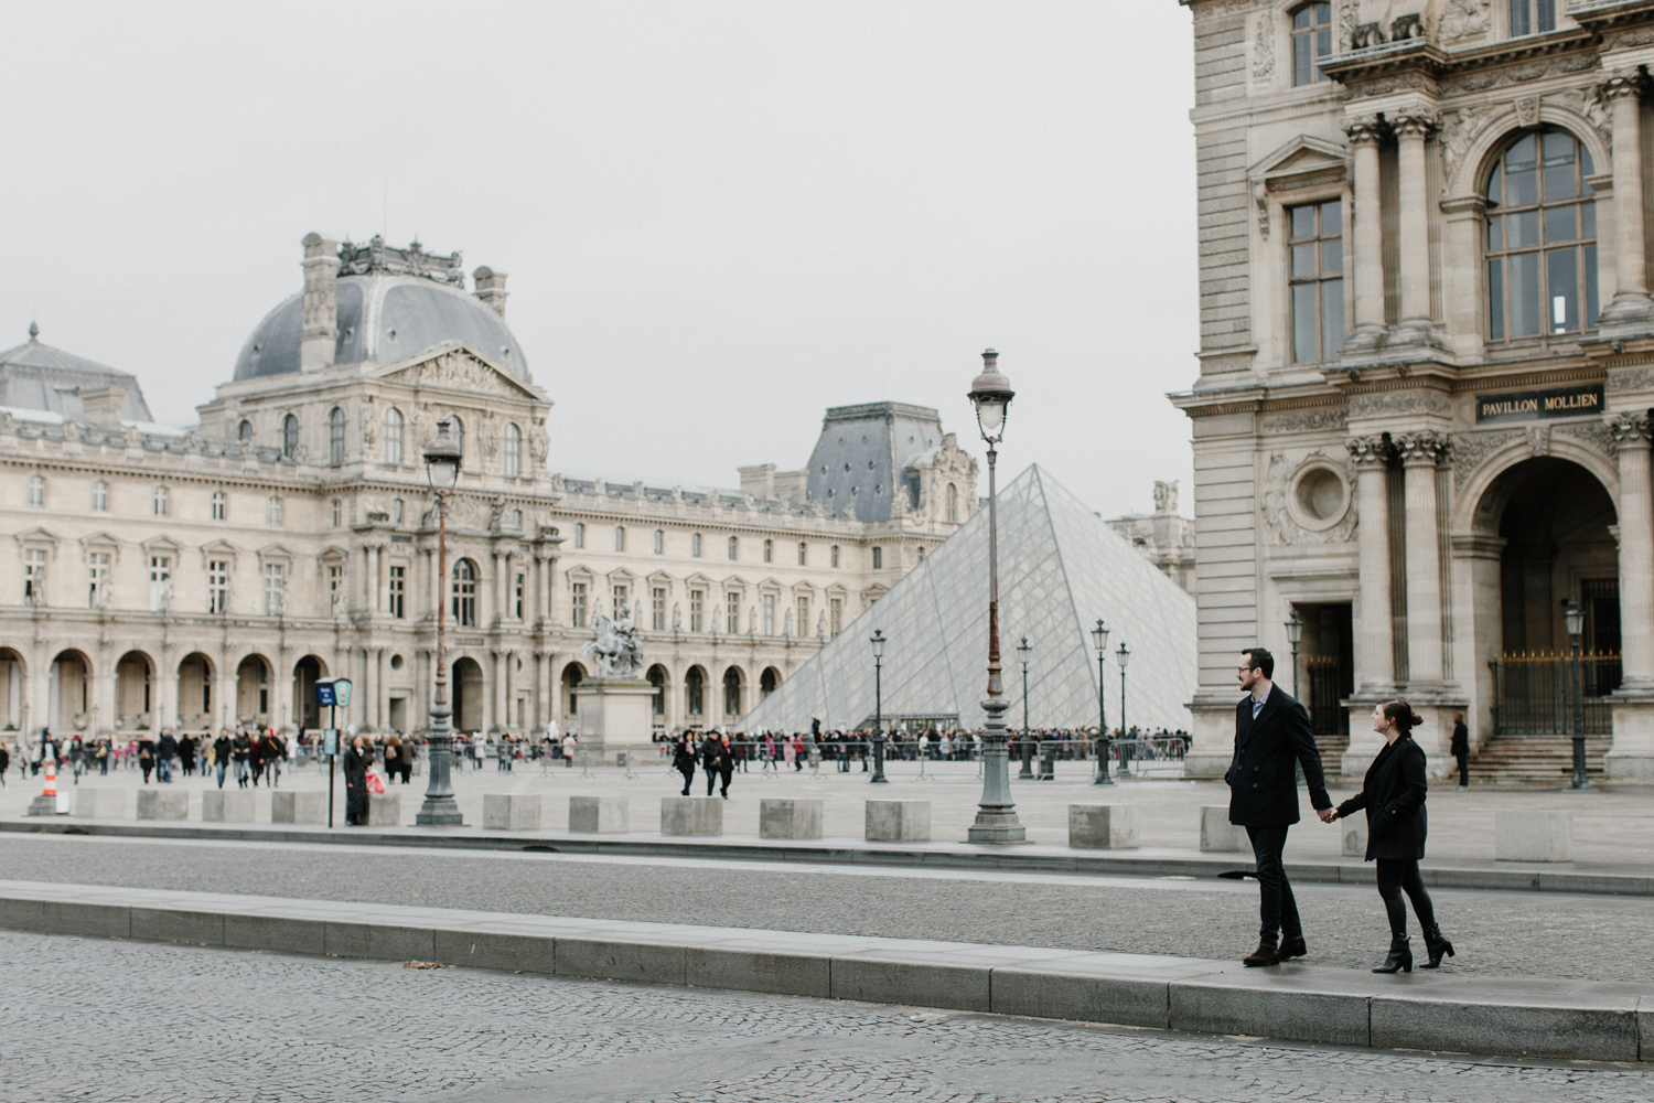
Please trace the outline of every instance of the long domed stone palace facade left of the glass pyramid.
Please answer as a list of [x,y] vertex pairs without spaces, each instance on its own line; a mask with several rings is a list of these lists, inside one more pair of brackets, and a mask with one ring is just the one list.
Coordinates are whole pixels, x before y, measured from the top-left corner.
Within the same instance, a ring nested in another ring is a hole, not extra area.
[[[458,253],[303,246],[194,428],[33,329],[0,354],[0,729],[314,728],[314,680],[344,675],[347,719],[418,731],[438,602],[463,731],[577,726],[581,647],[619,607],[657,728],[733,726],[976,511],[976,461],[890,402],[829,410],[810,468],[739,489],[552,473],[503,273],[466,293]],[[447,579],[422,461],[443,417]]]

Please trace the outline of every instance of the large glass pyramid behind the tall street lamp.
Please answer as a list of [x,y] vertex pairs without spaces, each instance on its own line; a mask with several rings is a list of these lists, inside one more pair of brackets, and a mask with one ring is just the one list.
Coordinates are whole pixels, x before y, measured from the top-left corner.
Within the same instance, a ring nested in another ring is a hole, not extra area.
[[[1108,622],[1108,726],[1189,729],[1196,688],[1194,599],[1039,466],[999,491],[999,650],[1006,724],[1022,726],[1027,637],[1029,724],[1097,724],[1092,627]],[[987,690],[987,509],[982,508],[844,632],[746,714],[746,731],[853,729],[873,716],[873,650],[883,630],[887,729],[981,728]]]

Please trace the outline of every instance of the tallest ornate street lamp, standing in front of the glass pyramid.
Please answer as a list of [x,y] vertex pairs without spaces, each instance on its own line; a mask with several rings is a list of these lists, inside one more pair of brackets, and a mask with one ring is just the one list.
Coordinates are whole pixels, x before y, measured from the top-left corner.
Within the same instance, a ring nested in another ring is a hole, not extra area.
[[976,427],[987,443],[987,700],[982,701],[982,800],[966,837],[974,843],[1025,842],[1027,828],[1011,800],[1006,761],[1006,700],[999,683],[999,496],[994,485],[997,445],[1006,437],[1006,410],[1016,392],[999,374],[999,354],[982,352],[982,374],[968,395],[976,407]]

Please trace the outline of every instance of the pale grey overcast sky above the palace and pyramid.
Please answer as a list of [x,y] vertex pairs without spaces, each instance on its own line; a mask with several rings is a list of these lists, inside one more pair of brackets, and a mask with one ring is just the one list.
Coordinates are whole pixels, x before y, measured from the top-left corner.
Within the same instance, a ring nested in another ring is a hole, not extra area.
[[[1088,3],[10,3],[0,347],[187,425],[299,238],[509,273],[549,463],[736,485],[825,407],[938,407],[1105,516],[1183,480],[1189,17]],[[986,493],[986,471],[982,493]]]

